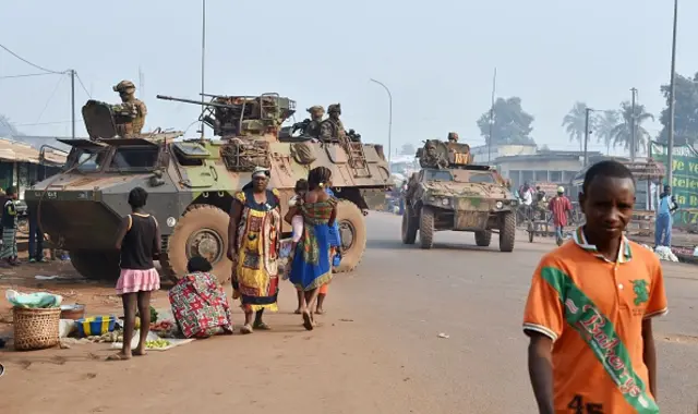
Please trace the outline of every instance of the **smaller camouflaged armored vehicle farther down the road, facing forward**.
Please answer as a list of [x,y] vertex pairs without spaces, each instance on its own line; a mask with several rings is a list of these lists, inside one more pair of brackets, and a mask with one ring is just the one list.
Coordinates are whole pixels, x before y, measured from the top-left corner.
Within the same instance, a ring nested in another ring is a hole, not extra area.
[[405,192],[402,243],[432,248],[434,233],[474,232],[478,246],[500,234],[500,249],[512,252],[517,200],[504,179],[489,166],[472,163],[468,144],[429,139],[417,150],[421,170]]

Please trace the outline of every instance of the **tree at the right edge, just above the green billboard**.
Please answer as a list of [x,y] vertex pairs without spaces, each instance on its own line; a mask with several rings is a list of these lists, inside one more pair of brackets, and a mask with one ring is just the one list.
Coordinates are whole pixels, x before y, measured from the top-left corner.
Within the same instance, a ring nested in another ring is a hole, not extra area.
[[[676,145],[693,145],[698,141],[698,73],[693,78],[676,74],[674,94],[674,143]],[[661,86],[662,95],[666,99],[666,108],[662,110],[660,122],[664,126],[658,139],[669,141],[669,89],[670,85]]]

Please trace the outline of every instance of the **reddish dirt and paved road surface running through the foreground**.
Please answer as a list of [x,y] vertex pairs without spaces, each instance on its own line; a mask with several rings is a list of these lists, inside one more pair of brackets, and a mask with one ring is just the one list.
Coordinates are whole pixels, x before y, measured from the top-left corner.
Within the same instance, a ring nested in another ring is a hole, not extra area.
[[[530,275],[552,241],[514,253],[438,233],[402,246],[399,218],[372,214],[360,270],[338,276],[324,324],[305,332],[284,285],[272,332],[196,341],[130,362],[106,346],[0,353],[3,413],[533,413],[520,330]],[[665,266],[670,314],[658,319],[660,406],[691,413],[698,389],[698,271]],[[241,315],[237,314],[236,322]],[[438,338],[446,333],[448,339]]]

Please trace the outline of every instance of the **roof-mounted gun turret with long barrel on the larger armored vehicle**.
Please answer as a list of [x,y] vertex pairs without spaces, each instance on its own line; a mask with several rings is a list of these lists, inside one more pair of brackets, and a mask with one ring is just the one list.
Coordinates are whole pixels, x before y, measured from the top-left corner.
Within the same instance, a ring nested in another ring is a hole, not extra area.
[[203,106],[198,120],[222,138],[273,135],[277,138],[281,124],[296,113],[296,101],[278,94],[260,96],[206,95],[210,101],[202,102],[158,95],[158,99]]

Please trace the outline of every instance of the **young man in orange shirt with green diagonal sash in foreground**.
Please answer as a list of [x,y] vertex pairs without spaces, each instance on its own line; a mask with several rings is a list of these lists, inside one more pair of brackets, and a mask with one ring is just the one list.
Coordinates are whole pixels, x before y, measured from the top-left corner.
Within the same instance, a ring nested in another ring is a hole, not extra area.
[[659,413],[652,321],[666,313],[659,259],[623,232],[635,182],[619,162],[593,165],[574,243],[546,254],[526,304],[528,365],[540,413]]

